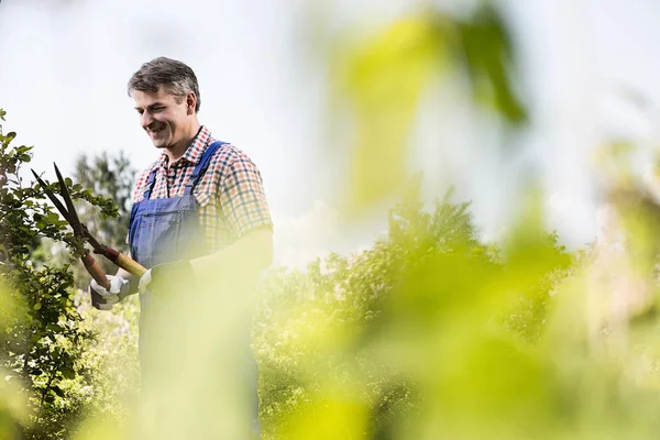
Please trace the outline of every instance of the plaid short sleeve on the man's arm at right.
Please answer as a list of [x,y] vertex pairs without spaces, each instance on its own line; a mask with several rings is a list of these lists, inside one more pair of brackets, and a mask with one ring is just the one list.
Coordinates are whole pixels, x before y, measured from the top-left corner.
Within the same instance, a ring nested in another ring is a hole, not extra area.
[[227,167],[219,197],[222,215],[235,237],[258,227],[273,228],[261,173],[244,153]]

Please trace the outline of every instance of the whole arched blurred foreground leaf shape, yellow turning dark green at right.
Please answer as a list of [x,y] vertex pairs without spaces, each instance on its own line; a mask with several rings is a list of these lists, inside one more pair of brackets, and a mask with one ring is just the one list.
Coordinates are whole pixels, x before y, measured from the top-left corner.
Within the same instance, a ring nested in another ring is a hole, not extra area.
[[525,107],[512,85],[514,64],[504,20],[490,6],[466,19],[432,11],[411,15],[345,50],[337,70],[355,119],[349,211],[402,195],[420,98],[448,72],[465,74],[475,103],[495,110],[505,122],[525,122]]

